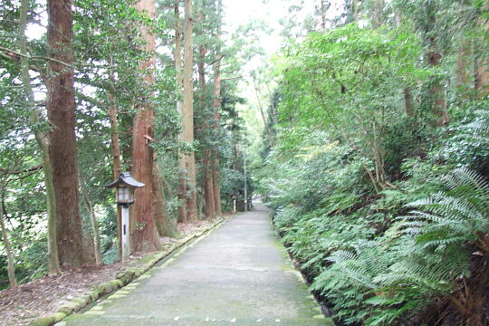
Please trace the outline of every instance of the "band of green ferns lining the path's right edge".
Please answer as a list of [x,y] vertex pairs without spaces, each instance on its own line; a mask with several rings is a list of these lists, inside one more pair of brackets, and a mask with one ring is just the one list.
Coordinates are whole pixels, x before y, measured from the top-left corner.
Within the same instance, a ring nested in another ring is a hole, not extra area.
[[443,181],[445,190],[406,205],[409,214],[380,236],[372,227],[375,219],[359,216],[365,211],[350,221],[329,214],[329,207],[301,218],[299,207],[277,213],[283,241],[302,268],[316,276],[312,290],[327,298],[336,318],[391,325],[453,292],[455,281],[469,276],[467,244],[489,232],[489,187],[466,168],[455,169]]

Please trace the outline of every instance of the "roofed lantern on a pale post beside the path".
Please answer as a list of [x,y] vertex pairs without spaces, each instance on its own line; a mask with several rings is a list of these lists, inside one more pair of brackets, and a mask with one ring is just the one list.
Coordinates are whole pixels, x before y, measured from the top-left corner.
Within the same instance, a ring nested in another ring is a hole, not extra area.
[[106,187],[115,187],[116,192],[116,203],[120,206],[120,246],[122,248],[122,253],[120,257],[122,262],[129,258],[130,245],[129,245],[129,206],[134,204],[134,189],[139,187],[144,187],[144,184],[136,181],[130,176],[129,172],[122,172],[117,180],[110,183]]

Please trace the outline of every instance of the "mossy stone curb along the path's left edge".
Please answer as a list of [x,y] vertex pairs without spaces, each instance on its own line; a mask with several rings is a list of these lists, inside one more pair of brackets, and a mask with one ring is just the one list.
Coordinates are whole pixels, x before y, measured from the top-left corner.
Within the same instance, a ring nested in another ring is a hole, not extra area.
[[85,295],[74,298],[71,302],[64,303],[59,309],[58,312],[53,313],[50,316],[38,318],[29,323],[29,326],[52,326],[55,323],[62,321],[73,312],[79,312],[87,305],[92,302],[97,301],[99,298],[106,294],[110,294],[111,292],[115,292],[120,288],[128,285],[132,281],[139,278],[140,275],[146,273],[157,264],[160,260],[166,258],[168,254],[172,254],[177,249],[181,248],[183,245],[186,245],[190,240],[201,237],[205,235],[212,229],[215,229],[217,226],[222,225],[230,219],[230,217],[221,217],[216,221],[213,225],[205,227],[203,230],[197,231],[193,235],[188,235],[186,238],[178,240],[176,244],[171,244],[168,248],[159,252],[158,254],[153,254],[153,258],[146,264],[140,267],[128,267],[124,271],[117,273],[115,280],[101,283],[97,285],[93,290],[88,291]]

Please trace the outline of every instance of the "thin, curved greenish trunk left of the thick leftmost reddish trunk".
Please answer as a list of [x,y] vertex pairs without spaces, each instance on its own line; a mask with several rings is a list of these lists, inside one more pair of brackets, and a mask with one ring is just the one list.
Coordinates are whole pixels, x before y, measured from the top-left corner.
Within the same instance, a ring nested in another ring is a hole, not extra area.
[[[19,49],[23,54],[27,54],[27,40],[25,37],[25,27],[27,24],[28,0],[22,0],[19,26]],[[26,56],[21,57],[21,75],[26,94],[27,110],[31,125],[36,126],[41,123],[41,112],[35,108],[34,91],[29,77],[29,61]],[[60,261],[58,256],[57,232],[56,232],[56,197],[53,185],[53,166],[49,156],[49,135],[41,129],[34,129],[34,137],[41,149],[43,161],[44,185],[46,187],[46,211],[48,218],[48,252],[49,252],[49,273],[61,273]]]

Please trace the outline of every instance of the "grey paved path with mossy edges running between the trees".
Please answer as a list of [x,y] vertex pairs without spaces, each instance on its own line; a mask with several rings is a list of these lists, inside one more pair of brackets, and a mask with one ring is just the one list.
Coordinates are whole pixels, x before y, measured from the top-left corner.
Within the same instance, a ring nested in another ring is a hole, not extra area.
[[269,212],[235,216],[58,325],[333,325],[292,268]]

